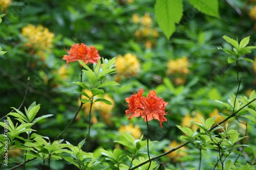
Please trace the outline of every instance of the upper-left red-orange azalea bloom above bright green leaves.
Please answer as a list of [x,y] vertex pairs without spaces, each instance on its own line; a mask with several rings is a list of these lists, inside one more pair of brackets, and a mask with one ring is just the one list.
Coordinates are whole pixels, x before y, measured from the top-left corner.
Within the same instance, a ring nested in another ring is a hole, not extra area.
[[100,59],[98,54],[98,50],[95,47],[90,46],[90,48],[81,43],[81,45],[74,44],[70,48],[70,51],[67,51],[69,55],[64,55],[63,60],[67,60],[67,65],[69,66],[69,62],[74,62],[77,60],[82,60],[84,63],[97,63]]

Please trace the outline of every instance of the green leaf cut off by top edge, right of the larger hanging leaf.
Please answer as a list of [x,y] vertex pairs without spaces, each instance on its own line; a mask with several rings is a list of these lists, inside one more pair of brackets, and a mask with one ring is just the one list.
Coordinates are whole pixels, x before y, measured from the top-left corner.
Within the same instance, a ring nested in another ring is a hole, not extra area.
[[194,8],[202,13],[210,16],[220,18],[218,0],[202,1],[202,0],[188,0]]

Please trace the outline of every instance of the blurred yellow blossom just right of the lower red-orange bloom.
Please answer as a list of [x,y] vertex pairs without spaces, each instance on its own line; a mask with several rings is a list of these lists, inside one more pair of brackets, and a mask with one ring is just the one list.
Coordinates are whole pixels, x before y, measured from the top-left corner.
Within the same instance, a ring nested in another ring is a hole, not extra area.
[[201,112],[192,112],[193,116],[190,116],[189,114],[186,114],[182,120],[181,120],[181,126],[182,127],[188,127],[191,128],[192,130],[198,129],[198,126],[196,126],[195,124],[191,123],[191,122],[197,122],[197,123],[201,123],[200,122],[200,117],[203,117],[203,115],[201,114]]

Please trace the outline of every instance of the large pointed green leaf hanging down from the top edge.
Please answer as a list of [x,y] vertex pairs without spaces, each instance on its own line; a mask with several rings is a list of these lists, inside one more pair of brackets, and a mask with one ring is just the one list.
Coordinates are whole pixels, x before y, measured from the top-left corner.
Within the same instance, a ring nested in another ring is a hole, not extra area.
[[182,12],[181,0],[157,0],[155,5],[157,23],[167,39],[175,32],[175,23],[180,22]]

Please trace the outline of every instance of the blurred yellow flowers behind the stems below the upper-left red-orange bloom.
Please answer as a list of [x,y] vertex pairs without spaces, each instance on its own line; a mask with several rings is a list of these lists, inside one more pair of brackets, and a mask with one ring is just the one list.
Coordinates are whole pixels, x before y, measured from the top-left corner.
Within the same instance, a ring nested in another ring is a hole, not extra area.
[[[88,89],[86,90],[83,90],[84,92],[86,92],[90,97],[92,97],[92,92]],[[111,124],[111,111],[112,109],[114,108],[114,100],[108,95],[108,94],[103,94],[103,96],[94,96],[94,101],[97,99],[97,98],[103,98],[105,100],[108,100],[112,103],[112,105],[107,105],[103,102],[94,102],[93,103],[93,106],[92,106],[92,123],[95,124],[98,122],[98,119],[95,115],[95,112],[98,111],[100,113],[100,116],[103,120],[103,122],[107,123],[107,124]],[[82,96],[82,99],[87,99],[86,96]],[[80,105],[80,100],[79,100],[79,105]],[[85,103],[83,104],[82,108],[84,109],[84,113],[86,115],[89,115],[89,112],[90,112],[90,107],[91,107],[91,103]]]

